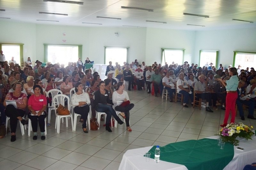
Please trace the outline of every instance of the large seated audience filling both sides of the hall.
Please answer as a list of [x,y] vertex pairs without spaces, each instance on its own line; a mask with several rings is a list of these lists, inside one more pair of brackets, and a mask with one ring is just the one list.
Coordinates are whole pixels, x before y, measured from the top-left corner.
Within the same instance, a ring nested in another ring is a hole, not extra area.
[[[51,62],[47,62],[45,66],[42,66],[43,63],[36,60],[35,66],[33,66],[31,59],[28,57],[28,60],[24,63],[24,67],[20,67],[20,64],[12,58],[9,62],[1,62],[0,65],[1,124],[6,123],[6,116],[11,117],[11,141],[15,141],[16,139],[15,132],[17,126],[15,124],[17,124],[17,121],[25,124],[24,115],[36,114],[33,103],[32,105],[31,103],[27,103],[27,101],[30,101],[28,99],[34,95],[37,95],[37,97],[40,95],[45,96],[52,89],[60,89],[63,94],[70,98],[69,91],[73,87],[76,87],[75,98],[73,97],[72,100],[76,102],[75,112],[82,115],[81,122],[83,123],[84,132],[88,132],[86,129],[86,119],[89,112],[89,107],[84,107],[85,103],[91,103],[92,117],[95,117],[95,111],[105,112],[108,115],[107,126],[109,125],[111,115],[115,117],[119,124],[123,123],[116,116],[114,107],[108,106],[109,104],[114,105],[116,110],[120,111],[120,115],[126,120],[127,130],[132,131],[128,122],[129,110],[134,105],[129,104],[127,107],[120,107],[116,104],[118,97],[125,102],[129,100],[127,92],[123,90],[145,90],[148,95],[152,94],[155,97],[159,97],[159,95],[162,95],[163,90],[166,89],[167,93],[169,93],[169,101],[173,102],[173,97],[176,93],[175,89],[177,89],[177,92],[184,97],[182,104],[185,108],[192,107],[190,103],[193,105],[193,92],[195,91],[196,97],[206,101],[206,111],[225,110],[226,89],[220,81],[215,80],[229,78],[228,69],[225,69],[222,64],[220,64],[219,69],[216,69],[217,66],[215,67],[213,63],[207,63],[205,66],[199,67],[194,63],[190,66],[187,61],[184,64],[174,62],[171,64],[165,63],[163,66],[157,62],[147,65],[144,61],[141,62],[138,60],[132,61],[131,63],[124,62],[122,66],[120,65],[121,63],[115,62],[115,66],[112,66],[112,61],[109,61],[105,73],[106,78],[103,78],[100,77],[98,72],[92,74],[90,68],[86,69],[84,67],[84,63],[91,63],[89,58],[84,62],[79,58],[78,61],[61,65],[59,63],[52,64]],[[231,67],[231,65],[228,66],[228,68]],[[256,97],[256,71],[253,67],[243,69],[239,65],[237,73],[240,80],[237,88],[239,97],[236,100],[239,115],[242,120],[245,119],[243,108],[247,106],[249,107],[247,118],[256,119],[253,117]],[[35,87],[37,91],[35,91]],[[84,93],[88,95],[86,96]],[[96,94],[95,98],[94,94]],[[86,100],[82,101],[79,95],[86,96]],[[112,95],[114,98],[113,102]],[[250,95],[250,97],[246,97],[246,95]],[[44,98],[43,96],[42,98]],[[12,98],[19,106],[18,109],[6,105],[5,100]],[[36,98],[34,100],[35,102],[37,101]],[[78,106],[83,107],[79,108]],[[45,107],[44,103],[41,107],[40,114],[43,113]],[[82,114],[83,110],[86,110],[86,114]],[[11,116],[11,112],[14,112],[15,115]],[[37,122],[36,119],[33,121]],[[44,136],[44,120],[38,119],[38,121],[42,132],[41,136]],[[36,136],[37,124],[33,124],[32,127]],[[111,129],[107,126],[106,130],[111,132]]]

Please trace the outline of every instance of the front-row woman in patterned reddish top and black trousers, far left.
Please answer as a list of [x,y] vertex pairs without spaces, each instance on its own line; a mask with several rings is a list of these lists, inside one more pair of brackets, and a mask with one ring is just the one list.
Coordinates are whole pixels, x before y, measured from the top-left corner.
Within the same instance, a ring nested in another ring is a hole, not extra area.
[[[27,107],[28,98],[27,95],[22,93],[23,90],[22,83],[16,82],[13,86],[13,92],[10,92],[6,95],[4,100],[5,115],[10,117],[10,126],[11,126],[11,142],[16,140],[16,129],[18,120],[25,125],[26,121],[22,119],[25,115],[25,109]],[[14,101],[14,105],[8,104],[7,101]],[[6,104],[7,102],[7,104]]]

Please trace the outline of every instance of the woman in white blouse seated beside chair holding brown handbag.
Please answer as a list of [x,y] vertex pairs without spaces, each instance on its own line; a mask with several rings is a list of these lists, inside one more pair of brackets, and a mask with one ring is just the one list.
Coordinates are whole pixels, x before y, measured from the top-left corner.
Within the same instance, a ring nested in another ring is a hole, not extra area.
[[90,110],[89,104],[91,103],[88,93],[84,92],[84,86],[81,82],[77,82],[75,86],[76,93],[72,95],[72,105],[75,106],[75,113],[81,115],[80,120],[83,122],[83,131],[88,133],[86,129],[87,116]]

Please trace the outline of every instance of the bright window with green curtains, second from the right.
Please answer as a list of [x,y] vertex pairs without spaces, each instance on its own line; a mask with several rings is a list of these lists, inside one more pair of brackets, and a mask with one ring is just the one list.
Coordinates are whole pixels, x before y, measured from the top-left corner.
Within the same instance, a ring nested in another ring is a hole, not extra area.
[[218,56],[219,51],[214,50],[200,50],[199,52],[199,67],[210,65],[213,63],[213,66],[218,69]]

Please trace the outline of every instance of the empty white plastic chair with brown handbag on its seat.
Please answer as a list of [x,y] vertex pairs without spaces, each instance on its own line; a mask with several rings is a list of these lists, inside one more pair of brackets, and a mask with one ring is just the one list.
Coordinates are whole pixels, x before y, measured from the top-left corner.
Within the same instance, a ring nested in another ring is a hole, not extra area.
[[73,126],[73,117],[72,114],[70,112],[69,115],[59,115],[57,113],[57,106],[59,106],[60,104],[62,106],[65,106],[65,101],[67,101],[67,105],[68,105],[68,110],[70,111],[70,102],[69,102],[69,97],[67,95],[56,95],[53,97],[52,101],[53,101],[53,105],[54,105],[54,110],[55,110],[55,129],[57,128],[57,133],[60,133],[60,119],[66,117],[66,127],[68,127],[68,117],[70,117],[71,119],[71,125],[72,125],[72,131],[74,131],[74,126]]

